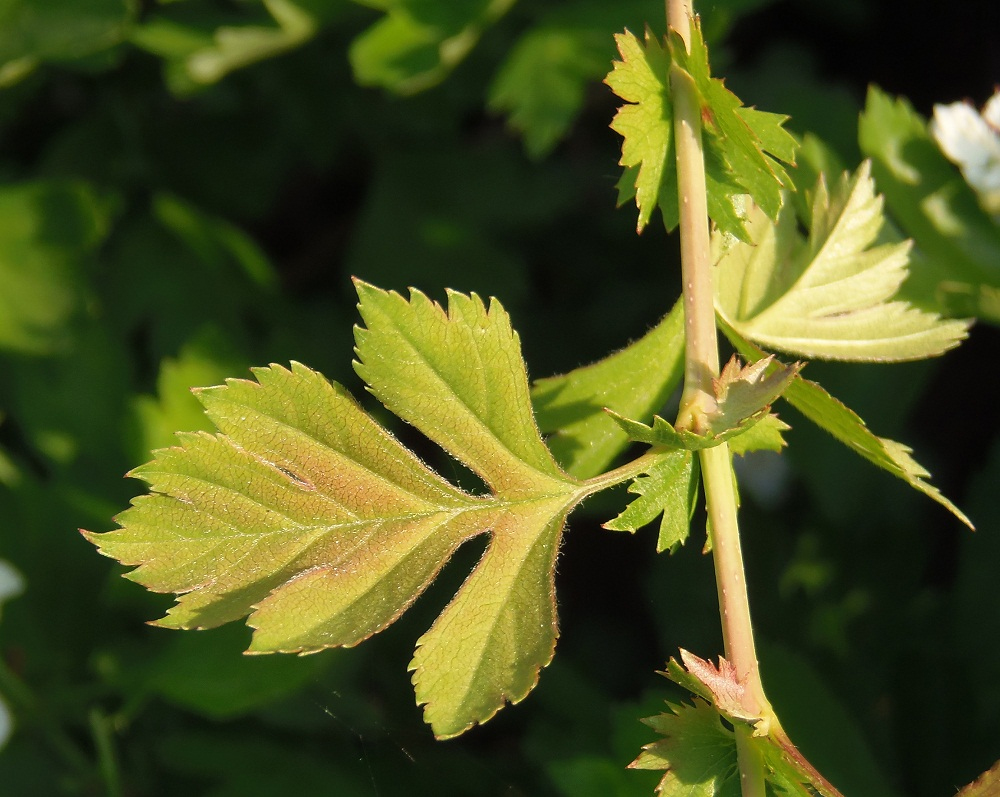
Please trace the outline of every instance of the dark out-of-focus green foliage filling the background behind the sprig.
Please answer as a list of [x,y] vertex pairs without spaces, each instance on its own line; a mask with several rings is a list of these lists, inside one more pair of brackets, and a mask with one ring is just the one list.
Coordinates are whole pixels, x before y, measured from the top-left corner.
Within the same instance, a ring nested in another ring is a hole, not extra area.
[[[1000,12],[699,10],[715,73],[825,142],[803,168],[874,159],[917,239],[911,298],[982,319],[940,361],[809,366],[976,534],[790,410],[788,452],[743,468],[786,727],[852,797],[950,794],[1000,755],[1000,231],[924,122],[1000,81]],[[651,0],[0,2],[0,795],[651,794],[624,769],[652,739],[637,719],[679,697],[654,674],[679,646],[719,652],[715,587],[697,542],[601,531],[610,499],[571,521],[538,688],[445,743],[405,669],[463,562],[358,649],[245,657],[241,627],[144,625],[168,599],[76,529],[111,528],[140,489],[122,474],[205,426],[190,386],[297,359],[360,395],[351,275],[498,296],[533,377],[644,332],[676,243],[614,210],[600,81],[614,32],[662,20]]]

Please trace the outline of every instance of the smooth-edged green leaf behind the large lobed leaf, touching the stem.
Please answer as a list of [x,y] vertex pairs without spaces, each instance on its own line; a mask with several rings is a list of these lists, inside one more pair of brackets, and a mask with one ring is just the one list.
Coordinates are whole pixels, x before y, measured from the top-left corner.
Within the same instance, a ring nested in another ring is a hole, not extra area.
[[568,473],[603,472],[625,450],[628,435],[606,413],[647,420],[680,383],[684,310],[680,302],[642,338],[596,363],[539,379],[531,392],[538,425]]

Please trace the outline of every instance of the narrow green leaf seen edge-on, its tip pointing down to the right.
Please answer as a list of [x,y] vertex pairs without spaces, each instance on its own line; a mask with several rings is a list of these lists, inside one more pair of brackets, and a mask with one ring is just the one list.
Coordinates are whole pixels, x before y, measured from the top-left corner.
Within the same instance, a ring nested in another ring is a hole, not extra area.
[[[730,343],[744,357],[754,360],[764,356],[763,351],[741,337],[725,322],[721,328]],[[924,481],[930,474],[910,456],[911,449],[894,440],[877,437],[853,410],[831,396],[823,387],[799,376],[788,386],[782,398],[848,448],[937,501],[966,526],[973,528],[972,521],[958,507],[936,487]]]

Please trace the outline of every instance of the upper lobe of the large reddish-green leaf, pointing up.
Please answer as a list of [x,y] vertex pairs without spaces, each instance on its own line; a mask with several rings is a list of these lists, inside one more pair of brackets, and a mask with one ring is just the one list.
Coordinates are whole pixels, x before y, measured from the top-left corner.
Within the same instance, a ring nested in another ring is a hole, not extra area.
[[419,291],[407,300],[357,281],[367,329],[355,370],[372,393],[490,489],[559,492],[568,480],[542,442],[517,333],[496,301],[448,292],[445,311]]

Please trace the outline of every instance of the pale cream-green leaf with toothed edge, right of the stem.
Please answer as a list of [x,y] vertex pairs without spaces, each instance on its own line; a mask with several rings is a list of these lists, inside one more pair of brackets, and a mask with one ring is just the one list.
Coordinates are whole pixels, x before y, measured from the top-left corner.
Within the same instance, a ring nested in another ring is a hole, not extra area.
[[[806,357],[915,360],[957,346],[967,323],[892,300],[910,245],[878,244],[884,224],[867,162],[832,192],[819,181],[807,240],[790,203],[774,223],[751,209],[752,243],[737,243],[718,261],[719,313],[744,337]],[[714,243],[722,246],[718,233]]]

